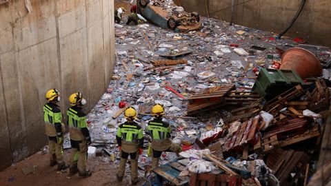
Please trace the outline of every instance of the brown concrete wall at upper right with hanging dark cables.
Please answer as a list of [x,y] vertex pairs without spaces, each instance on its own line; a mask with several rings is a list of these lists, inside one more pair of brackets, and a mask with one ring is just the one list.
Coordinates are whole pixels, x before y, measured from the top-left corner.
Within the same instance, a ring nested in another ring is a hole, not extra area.
[[[297,10],[301,0],[234,0],[241,5],[234,8],[234,23],[251,28],[280,33],[284,30]],[[232,0],[174,0],[188,12],[197,11],[206,15],[207,3],[210,17],[229,21]],[[245,2],[245,3],[243,3]],[[331,1],[306,1],[297,22],[288,31],[290,37],[300,37],[309,43],[331,46]],[[219,11],[220,10],[220,11]]]

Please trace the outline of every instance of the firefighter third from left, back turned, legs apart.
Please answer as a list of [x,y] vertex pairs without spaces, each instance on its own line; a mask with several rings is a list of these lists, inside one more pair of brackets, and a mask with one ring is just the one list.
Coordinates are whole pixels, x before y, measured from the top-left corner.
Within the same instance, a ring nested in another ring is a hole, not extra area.
[[126,108],[124,117],[127,121],[119,125],[116,135],[121,156],[117,180],[121,181],[123,179],[126,162],[128,161],[128,156],[130,156],[132,185],[138,183],[138,156],[143,152],[143,130],[141,126],[134,122],[136,116],[137,112],[134,107]]

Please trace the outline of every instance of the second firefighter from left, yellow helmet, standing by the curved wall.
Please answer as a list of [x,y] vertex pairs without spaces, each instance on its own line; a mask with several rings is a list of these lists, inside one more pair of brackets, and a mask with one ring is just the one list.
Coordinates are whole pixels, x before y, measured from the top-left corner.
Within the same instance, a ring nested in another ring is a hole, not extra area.
[[79,177],[86,178],[92,175],[86,170],[88,145],[91,144],[86,114],[82,110],[82,106],[86,104],[86,99],[83,99],[80,92],[76,92],[70,95],[69,102],[71,106],[67,110],[67,115],[72,147],[69,175],[72,176],[78,172]]

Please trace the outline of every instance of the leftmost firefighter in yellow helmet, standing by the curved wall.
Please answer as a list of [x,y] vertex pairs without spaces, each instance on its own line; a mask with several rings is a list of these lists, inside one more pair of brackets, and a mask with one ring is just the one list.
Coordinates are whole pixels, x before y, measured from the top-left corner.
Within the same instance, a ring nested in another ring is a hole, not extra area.
[[48,136],[48,152],[50,154],[50,166],[57,165],[57,170],[67,169],[63,161],[63,132],[62,114],[57,102],[60,101],[60,92],[57,89],[48,90],[46,103],[43,106],[43,119],[45,121],[46,135]]

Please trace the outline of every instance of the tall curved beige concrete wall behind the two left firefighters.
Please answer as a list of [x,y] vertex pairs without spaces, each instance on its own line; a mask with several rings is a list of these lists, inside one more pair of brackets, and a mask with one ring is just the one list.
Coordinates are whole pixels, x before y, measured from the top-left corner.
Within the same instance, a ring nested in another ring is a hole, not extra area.
[[110,0],[0,5],[0,169],[46,145],[47,90],[60,90],[63,114],[73,92],[86,97],[86,111],[99,101],[114,65],[113,7]]

